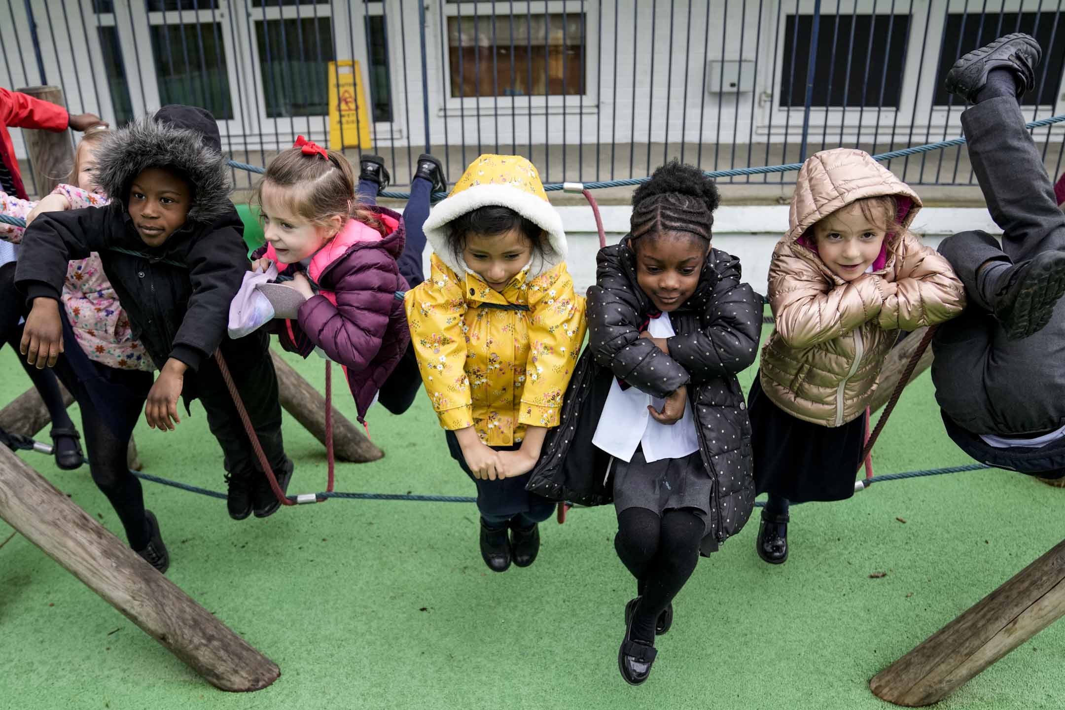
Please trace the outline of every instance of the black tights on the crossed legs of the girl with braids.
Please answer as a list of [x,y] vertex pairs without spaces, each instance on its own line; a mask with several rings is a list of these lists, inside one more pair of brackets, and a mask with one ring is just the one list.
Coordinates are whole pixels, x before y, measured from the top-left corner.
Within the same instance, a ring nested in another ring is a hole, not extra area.
[[668,510],[659,517],[645,508],[628,508],[618,515],[613,545],[640,594],[634,639],[654,641],[658,615],[694,572],[705,533],[706,524],[691,510]]

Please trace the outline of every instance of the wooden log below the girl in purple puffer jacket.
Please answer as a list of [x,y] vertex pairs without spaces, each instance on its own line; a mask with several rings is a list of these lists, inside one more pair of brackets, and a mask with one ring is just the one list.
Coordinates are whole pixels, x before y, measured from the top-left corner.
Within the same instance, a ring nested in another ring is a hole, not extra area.
[[[277,370],[278,398],[281,407],[289,414],[292,414],[297,422],[314,434],[314,437],[326,443],[326,399],[311,383],[305,380],[299,373],[286,363],[277,352],[271,350],[271,358],[274,359],[274,369]],[[334,374],[333,384],[340,379],[340,392],[347,396],[347,384]],[[338,461],[354,461],[365,463],[377,461],[384,456],[384,451],[371,442],[359,431],[350,419],[332,408],[333,416],[333,451]]]

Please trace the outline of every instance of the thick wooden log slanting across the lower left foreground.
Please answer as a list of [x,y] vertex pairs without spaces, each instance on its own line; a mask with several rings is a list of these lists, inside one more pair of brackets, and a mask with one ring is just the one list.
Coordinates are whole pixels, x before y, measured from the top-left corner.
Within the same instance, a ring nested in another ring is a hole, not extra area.
[[4,447],[0,517],[212,686],[255,691],[281,675],[273,661]]

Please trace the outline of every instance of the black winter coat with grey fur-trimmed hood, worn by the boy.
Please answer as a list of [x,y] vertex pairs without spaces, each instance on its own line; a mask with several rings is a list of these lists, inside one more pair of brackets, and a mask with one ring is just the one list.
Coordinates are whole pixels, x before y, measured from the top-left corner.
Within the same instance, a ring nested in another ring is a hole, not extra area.
[[[97,251],[157,366],[176,358],[193,370],[226,335],[229,303],[248,268],[244,222],[229,201],[226,160],[210,114],[164,106],[109,136],[97,152],[104,208],[42,214],[26,231],[15,280],[29,299],[60,297],[67,262]],[[187,220],[158,248],[142,242],[126,201],[145,168],[175,169],[193,185]],[[235,364],[235,363],[234,363]]]

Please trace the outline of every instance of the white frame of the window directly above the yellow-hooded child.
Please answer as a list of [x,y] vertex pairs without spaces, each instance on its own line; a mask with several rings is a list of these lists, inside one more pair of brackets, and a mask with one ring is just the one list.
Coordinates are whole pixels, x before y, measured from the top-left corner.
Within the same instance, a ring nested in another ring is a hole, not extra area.
[[[459,6],[461,5],[461,11]],[[594,31],[597,27],[599,14],[601,11],[599,2],[581,2],[580,0],[532,0],[526,3],[515,3],[514,17],[525,17],[531,14],[532,17],[547,15],[561,15],[564,11],[567,15],[579,16],[581,12],[585,18],[585,93],[552,95],[552,96],[452,96],[452,71],[450,71],[450,47],[448,40],[447,22],[453,17],[473,17],[476,13],[478,21],[491,21],[492,13],[495,17],[510,16],[510,3],[492,2],[447,2],[447,0],[436,0],[435,6],[437,15],[437,55],[441,62],[440,72],[443,77],[443,96],[441,105],[437,109],[438,116],[457,117],[459,113],[464,115],[497,115],[509,116],[514,114],[577,114],[594,113],[599,110],[599,96],[594,78],[599,76],[599,46],[602,37]],[[525,7],[529,13],[520,12]],[[442,12],[441,12],[442,11]],[[579,19],[577,19],[579,21]],[[426,50],[430,51],[430,50]],[[439,88],[439,85],[438,85]],[[430,90],[432,90],[430,88]],[[496,111],[496,104],[498,110]],[[479,110],[478,110],[479,109]]]

